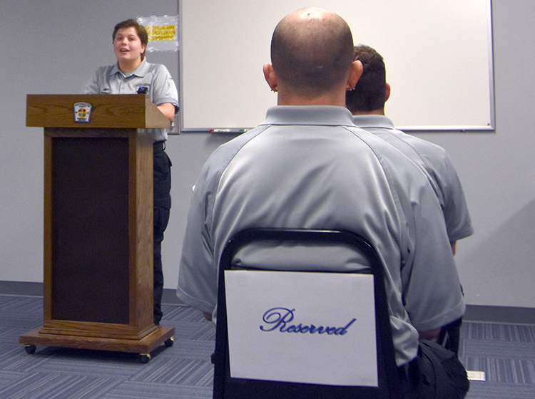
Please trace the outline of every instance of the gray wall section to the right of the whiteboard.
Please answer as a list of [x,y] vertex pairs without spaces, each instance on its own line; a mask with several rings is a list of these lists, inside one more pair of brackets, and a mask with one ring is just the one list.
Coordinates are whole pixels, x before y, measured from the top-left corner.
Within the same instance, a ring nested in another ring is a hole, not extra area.
[[459,242],[469,304],[535,307],[535,62],[531,0],[494,0],[496,133],[420,135],[449,152],[476,234]]

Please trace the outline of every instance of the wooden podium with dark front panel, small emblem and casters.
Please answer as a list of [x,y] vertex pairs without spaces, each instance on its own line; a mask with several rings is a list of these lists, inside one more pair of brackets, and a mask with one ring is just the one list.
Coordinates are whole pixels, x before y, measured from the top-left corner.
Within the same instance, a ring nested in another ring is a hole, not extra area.
[[168,119],[147,95],[28,95],[26,126],[44,128],[44,321],[20,343],[148,361],[175,333],[153,323],[148,129]]

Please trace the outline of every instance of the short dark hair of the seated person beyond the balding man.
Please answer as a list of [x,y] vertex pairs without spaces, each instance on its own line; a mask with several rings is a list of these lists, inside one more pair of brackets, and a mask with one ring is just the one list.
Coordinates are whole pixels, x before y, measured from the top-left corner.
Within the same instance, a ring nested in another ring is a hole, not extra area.
[[355,46],[354,61],[362,62],[362,76],[352,90],[345,93],[345,104],[352,113],[384,108],[387,71],[382,56],[370,46]]

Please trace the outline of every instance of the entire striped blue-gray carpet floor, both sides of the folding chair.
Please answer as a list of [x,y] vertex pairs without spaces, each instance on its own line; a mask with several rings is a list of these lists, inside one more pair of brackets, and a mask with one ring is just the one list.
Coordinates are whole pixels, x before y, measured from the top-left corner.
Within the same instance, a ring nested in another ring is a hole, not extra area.
[[[19,336],[41,326],[43,299],[0,295],[0,398],[212,398],[215,328],[185,306],[163,311],[175,343],[146,364],[135,353],[47,346],[29,355]],[[535,398],[535,325],[464,321],[459,358],[485,375],[471,382],[467,399]]]

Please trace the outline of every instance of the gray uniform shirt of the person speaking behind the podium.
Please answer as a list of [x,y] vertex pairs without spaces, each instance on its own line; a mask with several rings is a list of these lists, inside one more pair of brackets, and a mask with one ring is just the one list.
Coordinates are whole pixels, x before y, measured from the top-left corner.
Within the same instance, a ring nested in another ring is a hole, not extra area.
[[[148,88],[148,96],[155,105],[171,103],[178,112],[178,90],[165,66],[148,63],[146,58],[135,71],[126,73],[117,63],[101,66],[82,88],[82,94],[136,94],[141,86]],[[154,141],[167,140],[167,130],[153,129]]]

